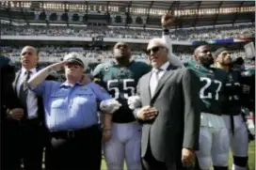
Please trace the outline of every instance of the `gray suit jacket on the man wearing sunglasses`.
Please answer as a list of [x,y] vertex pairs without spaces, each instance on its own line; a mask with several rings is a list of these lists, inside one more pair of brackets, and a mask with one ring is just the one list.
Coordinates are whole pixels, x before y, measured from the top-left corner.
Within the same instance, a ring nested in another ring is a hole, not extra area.
[[[141,156],[151,147],[160,162],[175,162],[182,147],[197,149],[200,132],[199,79],[191,70],[169,65],[151,96],[152,72],[139,79],[137,94],[142,106],[152,105],[159,112],[142,124]],[[179,156],[180,157],[180,156]],[[181,159],[181,158],[178,158]]]

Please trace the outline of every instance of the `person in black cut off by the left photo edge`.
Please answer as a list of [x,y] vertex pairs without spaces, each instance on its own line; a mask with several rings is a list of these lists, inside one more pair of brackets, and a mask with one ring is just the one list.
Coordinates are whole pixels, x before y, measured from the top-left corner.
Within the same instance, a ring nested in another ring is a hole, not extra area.
[[[1,103],[1,169],[13,169],[13,155],[15,141],[11,136],[11,129],[8,127],[8,118],[15,115],[23,115],[21,104],[14,94],[11,86],[15,78],[15,67],[10,59],[5,56],[0,56],[0,103]],[[7,116],[7,112],[9,113]]]

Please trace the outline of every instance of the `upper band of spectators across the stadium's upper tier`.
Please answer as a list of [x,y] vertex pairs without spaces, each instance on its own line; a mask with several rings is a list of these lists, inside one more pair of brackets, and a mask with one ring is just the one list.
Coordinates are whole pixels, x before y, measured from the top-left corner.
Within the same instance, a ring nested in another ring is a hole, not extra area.
[[[103,36],[104,38],[119,39],[152,39],[162,35],[161,30],[132,29],[132,28],[108,28],[108,27],[74,27],[74,26],[36,26],[23,25],[13,26],[1,25],[1,35],[22,36],[65,36],[93,38]],[[254,38],[255,25],[243,24],[233,26],[217,26],[212,28],[176,29],[170,31],[173,40],[205,40],[205,39],[237,39]]]

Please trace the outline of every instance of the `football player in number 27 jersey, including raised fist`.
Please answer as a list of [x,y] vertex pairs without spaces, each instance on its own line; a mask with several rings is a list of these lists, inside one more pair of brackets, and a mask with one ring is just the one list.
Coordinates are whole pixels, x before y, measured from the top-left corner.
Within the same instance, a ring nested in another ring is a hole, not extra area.
[[[169,19],[169,20],[163,20]],[[168,35],[171,15],[162,17],[165,26],[164,34]],[[168,36],[163,37],[169,39]],[[201,122],[200,149],[197,158],[201,170],[210,170],[212,162],[215,170],[228,170],[229,141],[228,130],[221,116],[221,99],[224,96],[224,85],[227,73],[212,68],[214,58],[210,48],[202,45],[194,51],[194,60],[184,63],[185,67],[194,70],[200,78]]]

